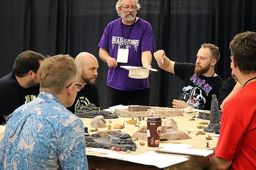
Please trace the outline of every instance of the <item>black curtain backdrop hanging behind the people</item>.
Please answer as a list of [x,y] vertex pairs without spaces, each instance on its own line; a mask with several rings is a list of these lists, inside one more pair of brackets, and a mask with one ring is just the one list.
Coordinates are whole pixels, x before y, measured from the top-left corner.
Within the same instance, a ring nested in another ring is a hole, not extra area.
[[[98,42],[105,26],[118,18],[116,0],[0,0],[0,77],[12,70],[17,55],[32,50],[43,55],[86,51],[98,58],[96,84],[105,108],[108,66],[98,57]],[[138,16],[153,27],[156,50],[163,49],[173,61],[196,61],[202,43],[214,43],[221,58],[216,71],[230,76],[229,42],[234,35],[256,31],[253,0],[140,0]],[[172,107],[182,81],[158,68],[150,75],[151,106]],[[118,81],[118,80],[117,80]]]

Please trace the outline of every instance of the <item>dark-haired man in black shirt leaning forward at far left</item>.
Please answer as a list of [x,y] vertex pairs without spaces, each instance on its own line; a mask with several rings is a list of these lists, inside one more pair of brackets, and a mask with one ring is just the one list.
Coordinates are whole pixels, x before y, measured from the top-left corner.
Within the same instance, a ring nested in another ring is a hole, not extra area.
[[13,71],[0,79],[0,122],[16,108],[32,101],[39,93],[39,66],[45,59],[39,53],[25,51],[18,55]]

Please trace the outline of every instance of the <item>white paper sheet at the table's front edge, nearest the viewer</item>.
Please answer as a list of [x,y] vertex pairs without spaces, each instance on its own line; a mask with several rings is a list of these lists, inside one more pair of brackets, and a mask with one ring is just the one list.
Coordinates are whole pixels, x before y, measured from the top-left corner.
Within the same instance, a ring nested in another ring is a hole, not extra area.
[[187,158],[184,158],[181,156],[161,155],[152,151],[147,151],[139,155],[125,155],[125,154],[119,154],[119,153],[111,153],[111,154],[105,155],[104,157],[114,158],[114,159],[123,159],[125,161],[140,163],[144,165],[153,165],[153,166],[157,166],[158,168],[168,167],[168,166],[188,160]]

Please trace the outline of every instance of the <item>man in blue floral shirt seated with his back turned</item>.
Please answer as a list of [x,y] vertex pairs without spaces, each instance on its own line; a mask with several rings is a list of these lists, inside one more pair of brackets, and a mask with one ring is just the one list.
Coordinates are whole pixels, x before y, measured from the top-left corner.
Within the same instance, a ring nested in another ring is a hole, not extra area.
[[66,107],[81,85],[69,55],[42,63],[40,93],[9,115],[0,145],[0,169],[88,169],[83,123]]

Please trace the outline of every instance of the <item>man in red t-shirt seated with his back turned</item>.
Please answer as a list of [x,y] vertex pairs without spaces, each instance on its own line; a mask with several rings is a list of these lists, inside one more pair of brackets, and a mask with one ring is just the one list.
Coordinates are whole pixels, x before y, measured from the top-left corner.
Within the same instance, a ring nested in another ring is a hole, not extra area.
[[209,169],[256,169],[256,33],[236,35],[229,47],[231,69],[242,88],[224,105]]

